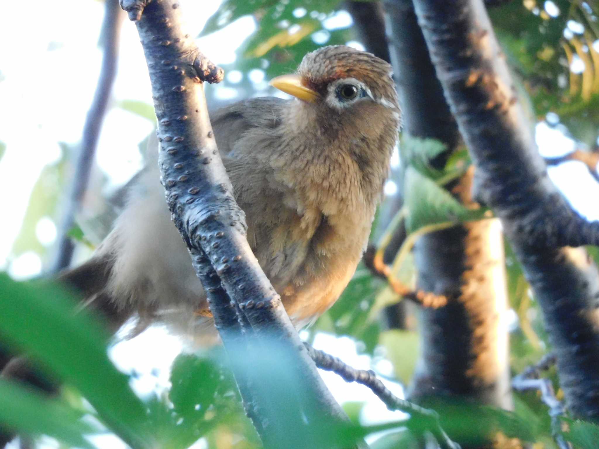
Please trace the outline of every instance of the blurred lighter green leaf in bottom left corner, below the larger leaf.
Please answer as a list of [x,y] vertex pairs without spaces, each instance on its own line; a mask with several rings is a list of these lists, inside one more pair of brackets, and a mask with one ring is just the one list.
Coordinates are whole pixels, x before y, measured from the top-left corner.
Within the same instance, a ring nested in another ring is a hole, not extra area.
[[83,435],[96,433],[83,413],[42,393],[0,379],[0,422],[26,435],[48,435],[74,447],[93,448]]

